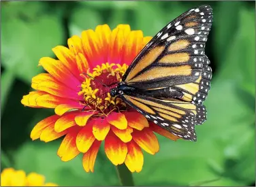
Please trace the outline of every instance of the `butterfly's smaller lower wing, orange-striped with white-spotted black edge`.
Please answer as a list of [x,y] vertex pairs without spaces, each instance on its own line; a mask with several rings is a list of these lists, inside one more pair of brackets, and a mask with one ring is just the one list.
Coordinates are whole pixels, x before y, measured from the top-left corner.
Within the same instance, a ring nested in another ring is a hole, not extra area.
[[206,120],[204,105],[162,100],[138,94],[121,95],[121,99],[148,120],[182,139],[196,141],[194,126],[196,123]]

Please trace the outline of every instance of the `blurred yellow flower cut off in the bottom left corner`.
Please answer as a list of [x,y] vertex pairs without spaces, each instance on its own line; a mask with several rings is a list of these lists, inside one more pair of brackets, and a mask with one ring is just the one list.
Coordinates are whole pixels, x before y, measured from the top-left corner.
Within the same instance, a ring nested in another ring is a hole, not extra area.
[[13,168],[3,169],[1,173],[1,186],[58,186],[57,184],[45,183],[43,175],[14,170]]

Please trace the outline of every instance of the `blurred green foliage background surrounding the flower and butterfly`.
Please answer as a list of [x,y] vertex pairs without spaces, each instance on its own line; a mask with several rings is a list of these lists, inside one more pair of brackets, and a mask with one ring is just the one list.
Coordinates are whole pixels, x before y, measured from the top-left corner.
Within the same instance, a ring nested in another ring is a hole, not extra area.
[[31,141],[33,126],[53,114],[20,103],[31,78],[43,71],[39,58],[55,58],[54,46],[98,24],[130,24],[155,35],[197,5],[213,8],[206,44],[213,69],[205,105],[208,120],[197,126],[197,143],[159,136],[160,152],[144,154],[138,186],[255,185],[255,2],[253,1],[1,1],[1,169],[46,175],[62,186],[119,185],[101,150],[95,173],[82,169],[82,155],[67,163],[57,156],[61,140]]

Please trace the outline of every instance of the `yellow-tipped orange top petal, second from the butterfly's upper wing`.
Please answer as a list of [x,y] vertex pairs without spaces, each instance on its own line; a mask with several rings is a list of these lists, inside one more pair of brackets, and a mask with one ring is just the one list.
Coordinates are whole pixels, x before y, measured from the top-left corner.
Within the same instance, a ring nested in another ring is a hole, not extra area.
[[129,65],[143,48],[142,31],[131,31],[123,49],[122,63]]

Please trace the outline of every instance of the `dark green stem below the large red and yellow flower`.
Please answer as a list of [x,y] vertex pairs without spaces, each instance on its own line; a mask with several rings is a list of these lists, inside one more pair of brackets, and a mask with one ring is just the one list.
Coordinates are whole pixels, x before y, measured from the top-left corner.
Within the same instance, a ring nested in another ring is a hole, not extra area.
[[134,186],[131,171],[125,164],[116,166],[116,170],[122,186]]

